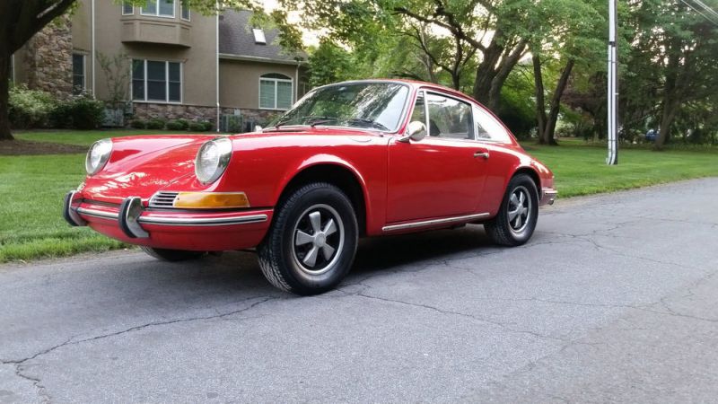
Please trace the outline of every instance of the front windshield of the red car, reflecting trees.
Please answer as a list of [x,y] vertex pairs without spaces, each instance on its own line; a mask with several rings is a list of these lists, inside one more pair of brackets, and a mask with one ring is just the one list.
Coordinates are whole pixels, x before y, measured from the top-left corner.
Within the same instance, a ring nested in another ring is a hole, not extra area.
[[346,83],[308,93],[274,126],[328,125],[398,129],[407,102],[408,87],[398,83]]

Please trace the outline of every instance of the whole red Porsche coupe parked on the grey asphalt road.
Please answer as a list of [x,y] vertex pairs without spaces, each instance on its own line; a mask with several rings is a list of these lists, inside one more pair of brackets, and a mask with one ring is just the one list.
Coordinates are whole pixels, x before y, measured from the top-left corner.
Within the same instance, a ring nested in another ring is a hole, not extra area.
[[256,248],[295,294],[336,286],[363,236],[483,224],[520,245],[556,198],[551,171],[477,101],[400,80],[316,88],[250,134],[103,139],[85,165],[70,224],[170,261]]

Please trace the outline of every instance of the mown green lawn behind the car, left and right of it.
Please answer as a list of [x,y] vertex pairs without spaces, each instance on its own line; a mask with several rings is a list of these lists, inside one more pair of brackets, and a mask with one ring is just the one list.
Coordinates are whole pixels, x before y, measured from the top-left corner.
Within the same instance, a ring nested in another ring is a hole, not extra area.
[[[161,131],[37,132],[18,138],[91,145],[97,139]],[[556,174],[559,198],[631,189],[675,180],[718,176],[718,153],[635,148],[607,166],[606,148],[565,142],[559,147],[526,145],[530,154]],[[0,156],[0,262],[118,249],[119,242],[88,228],[70,227],[62,218],[62,200],[84,178],[84,155]]]

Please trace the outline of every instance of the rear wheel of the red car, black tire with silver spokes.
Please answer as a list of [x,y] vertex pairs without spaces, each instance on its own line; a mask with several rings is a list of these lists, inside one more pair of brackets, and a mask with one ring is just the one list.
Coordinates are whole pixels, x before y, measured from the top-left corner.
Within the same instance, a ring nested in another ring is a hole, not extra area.
[[518,174],[509,181],[498,214],[484,228],[493,242],[512,247],[529,241],[537,221],[536,184],[528,175]]

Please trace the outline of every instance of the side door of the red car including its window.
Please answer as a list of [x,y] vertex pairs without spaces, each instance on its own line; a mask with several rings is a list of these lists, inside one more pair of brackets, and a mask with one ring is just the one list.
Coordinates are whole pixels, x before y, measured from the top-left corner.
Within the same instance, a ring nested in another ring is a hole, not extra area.
[[428,136],[389,145],[387,223],[477,213],[488,150],[476,141],[472,107],[438,92],[419,92],[411,121]]

